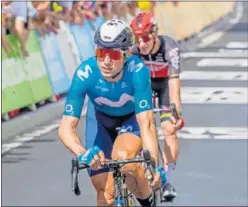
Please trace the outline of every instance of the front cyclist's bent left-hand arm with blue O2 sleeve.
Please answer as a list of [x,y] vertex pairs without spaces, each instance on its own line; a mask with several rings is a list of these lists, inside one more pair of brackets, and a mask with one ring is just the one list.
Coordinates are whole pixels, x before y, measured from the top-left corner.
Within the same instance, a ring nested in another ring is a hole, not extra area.
[[84,81],[80,79],[79,71],[80,68],[76,70],[72,79],[59,127],[59,137],[62,143],[77,156],[86,151],[76,134],[76,127],[80,119],[88,84],[87,79]]

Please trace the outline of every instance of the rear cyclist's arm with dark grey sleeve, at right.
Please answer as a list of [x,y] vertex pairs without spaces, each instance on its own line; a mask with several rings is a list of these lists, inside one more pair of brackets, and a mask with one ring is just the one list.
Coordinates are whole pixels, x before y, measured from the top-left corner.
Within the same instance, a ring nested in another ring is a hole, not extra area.
[[180,49],[173,39],[168,39],[166,44],[166,60],[169,63],[169,98],[170,103],[175,103],[177,112],[181,111],[180,97]]

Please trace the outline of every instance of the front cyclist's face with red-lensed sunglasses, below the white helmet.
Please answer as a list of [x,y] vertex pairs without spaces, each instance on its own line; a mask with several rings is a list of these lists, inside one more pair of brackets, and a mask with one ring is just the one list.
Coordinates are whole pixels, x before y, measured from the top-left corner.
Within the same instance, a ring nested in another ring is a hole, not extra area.
[[97,48],[96,57],[103,77],[115,76],[123,69],[124,58],[120,49]]

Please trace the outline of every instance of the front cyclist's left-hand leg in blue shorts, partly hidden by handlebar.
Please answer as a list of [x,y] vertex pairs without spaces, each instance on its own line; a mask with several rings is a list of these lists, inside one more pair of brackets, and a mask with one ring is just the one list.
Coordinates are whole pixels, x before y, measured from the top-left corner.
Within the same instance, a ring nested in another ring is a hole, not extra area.
[[[113,142],[108,131],[93,117],[86,121],[86,149],[99,146],[105,157],[111,159]],[[91,182],[97,192],[97,206],[112,205],[114,203],[114,180],[109,169],[88,170]]]

